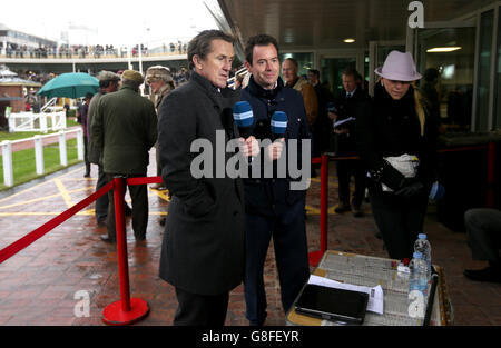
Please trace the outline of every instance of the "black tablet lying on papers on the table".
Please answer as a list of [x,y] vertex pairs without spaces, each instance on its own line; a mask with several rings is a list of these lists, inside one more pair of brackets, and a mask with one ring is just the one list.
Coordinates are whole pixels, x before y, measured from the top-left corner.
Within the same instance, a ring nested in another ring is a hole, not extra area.
[[307,284],[298,296],[295,309],[321,319],[363,324],[369,294]]

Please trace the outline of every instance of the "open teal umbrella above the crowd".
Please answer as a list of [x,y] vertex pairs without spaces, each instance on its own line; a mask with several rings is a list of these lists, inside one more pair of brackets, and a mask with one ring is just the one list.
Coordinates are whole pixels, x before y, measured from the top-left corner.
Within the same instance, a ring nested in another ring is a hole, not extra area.
[[80,98],[87,93],[96,93],[99,89],[99,80],[85,72],[61,73],[53,78],[37,92],[49,98]]

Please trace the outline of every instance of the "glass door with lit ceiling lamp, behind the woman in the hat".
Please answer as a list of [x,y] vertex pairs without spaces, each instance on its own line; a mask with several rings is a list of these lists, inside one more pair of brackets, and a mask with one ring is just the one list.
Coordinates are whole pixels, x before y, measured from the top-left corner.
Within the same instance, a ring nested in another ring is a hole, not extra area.
[[475,36],[474,22],[425,23],[412,36],[419,84],[440,106],[442,132],[472,128]]

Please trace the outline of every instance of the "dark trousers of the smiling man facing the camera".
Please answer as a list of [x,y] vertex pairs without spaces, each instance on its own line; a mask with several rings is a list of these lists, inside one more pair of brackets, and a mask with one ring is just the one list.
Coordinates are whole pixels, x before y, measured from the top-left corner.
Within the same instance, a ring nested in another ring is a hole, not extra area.
[[267,315],[263,270],[272,236],[285,312],[310,277],[304,205],[304,199],[293,206],[276,205],[276,217],[246,215],[244,289],[250,325],[263,325]]

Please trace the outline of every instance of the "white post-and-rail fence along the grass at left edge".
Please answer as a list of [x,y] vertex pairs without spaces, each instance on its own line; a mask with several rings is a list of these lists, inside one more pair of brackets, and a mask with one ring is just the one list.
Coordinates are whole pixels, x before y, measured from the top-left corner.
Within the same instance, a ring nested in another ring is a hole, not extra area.
[[68,131],[59,131],[58,133],[47,136],[35,136],[32,138],[19,139],[19,140],[4,140],[1,142],[2,159],[3,159],[3,183],[7,187],[13,186],[13,167],[12,167],[12,145],[17,145],[26,141],[33,141],[35,143],[35,162],[37,168],[37,175],[45,173],[43,166],[43,139],[58,137],[59,141],[59,159],[61,166],[68,166],[68,152],[66,149],[66,136],[68,133],[77,133],[77,158],[84,160],[84,131],[79,127]]

